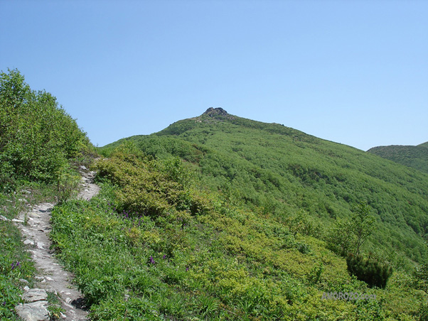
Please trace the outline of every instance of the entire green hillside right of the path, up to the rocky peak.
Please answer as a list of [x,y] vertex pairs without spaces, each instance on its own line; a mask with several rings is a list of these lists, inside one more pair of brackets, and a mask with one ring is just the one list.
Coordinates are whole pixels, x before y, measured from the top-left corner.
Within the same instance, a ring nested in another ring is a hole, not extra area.
[[50,234],[92,320],[427,315],[428,175],[223,109],[101,151]]

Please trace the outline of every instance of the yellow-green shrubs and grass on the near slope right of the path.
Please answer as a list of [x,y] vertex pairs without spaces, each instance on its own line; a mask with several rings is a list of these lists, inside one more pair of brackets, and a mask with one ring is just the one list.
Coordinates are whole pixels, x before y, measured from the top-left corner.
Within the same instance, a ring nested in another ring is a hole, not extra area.
[[316,225],[304,212],[284,224],[226,187],[205,190],[189,163],[130,143],[95,169],[101,194],[55,207],[51,233],[92,320],[417,320],[423,312],[426,295],[407,273],[369,288],[308,235]]

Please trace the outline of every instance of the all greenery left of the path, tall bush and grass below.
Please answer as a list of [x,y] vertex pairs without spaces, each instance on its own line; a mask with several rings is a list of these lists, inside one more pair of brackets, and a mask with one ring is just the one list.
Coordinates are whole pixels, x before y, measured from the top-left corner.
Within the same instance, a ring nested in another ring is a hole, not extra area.
[[46,91],[34,91],[18,70],[0,72],[0,320],[18,320],[25,285],[35,268],[11,222],[38,202],[65,201],[75,193],[77,165],[94,146]]

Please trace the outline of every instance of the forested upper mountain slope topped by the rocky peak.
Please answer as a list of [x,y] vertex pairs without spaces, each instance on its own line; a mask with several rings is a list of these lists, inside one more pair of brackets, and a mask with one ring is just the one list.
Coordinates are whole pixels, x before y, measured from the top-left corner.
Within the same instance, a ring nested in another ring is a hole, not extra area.
[[[406,257],[428,259],[421,237],[428,229],[428,175],[419,171],[218,109],[127,140],[156,158],[187,160],[201,185],[230,190],[247,208],[279,220],[304,210],[328,229],[335,219],[349,217],[358,202],[367,202],[376,217],[367,251],[395,265]],[[105,153],[119,143],[105,146]]]

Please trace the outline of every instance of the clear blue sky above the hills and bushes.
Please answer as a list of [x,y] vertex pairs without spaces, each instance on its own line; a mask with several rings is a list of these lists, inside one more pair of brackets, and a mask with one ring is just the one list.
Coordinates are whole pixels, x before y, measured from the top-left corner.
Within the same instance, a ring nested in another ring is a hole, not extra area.
[[0,70],[104,146],[208,107],[367,150],[428,141],[428,1],[0,0]]

